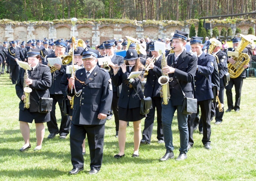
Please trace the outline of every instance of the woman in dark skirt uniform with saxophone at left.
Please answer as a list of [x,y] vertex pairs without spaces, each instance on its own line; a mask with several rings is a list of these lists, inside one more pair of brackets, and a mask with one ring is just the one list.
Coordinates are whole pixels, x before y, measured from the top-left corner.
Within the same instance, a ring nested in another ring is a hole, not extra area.
[[17,84],[15,86],[16,94],[20,98],[19,103],[19,121],[20,121],[20,132],[25,141],[25,144],[20,148],[20,151],[26,151],[31,148],[30,145],[30,127],[28,123],[32,123],[35,120],[35,133],[37,137],[36,150],[41,150],[42,142],[45,135],[44,122],[50,121],[50,113],[39,113],[39,97],[35,90],[37,90],[39,96],[48,98],[48,89],[52,84],[52,76],[50,68],[46,65],[41,64],[41,58],[39,52],[28,52],[28,64],[32,70],[28,70],[28,78],[25,80],[32,92],[30,92],[30,106],[24,108],[24,73],[25,70],[20,68]]

